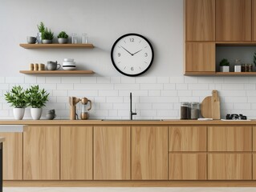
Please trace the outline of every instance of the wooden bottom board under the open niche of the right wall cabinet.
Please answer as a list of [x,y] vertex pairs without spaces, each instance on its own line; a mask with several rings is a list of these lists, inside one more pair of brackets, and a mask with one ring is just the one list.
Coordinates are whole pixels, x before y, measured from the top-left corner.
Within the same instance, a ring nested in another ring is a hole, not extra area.
[[256,72],[185,72],[187,76],[255,76]]

